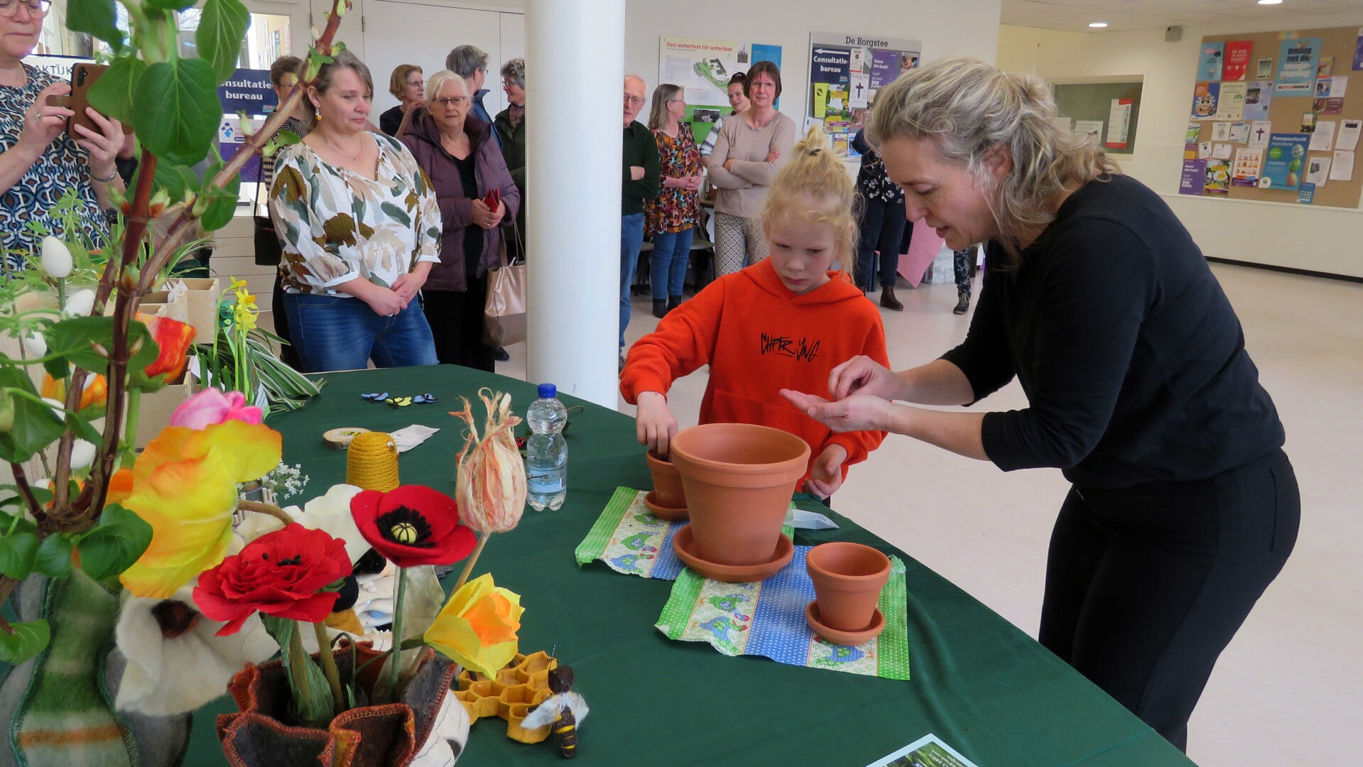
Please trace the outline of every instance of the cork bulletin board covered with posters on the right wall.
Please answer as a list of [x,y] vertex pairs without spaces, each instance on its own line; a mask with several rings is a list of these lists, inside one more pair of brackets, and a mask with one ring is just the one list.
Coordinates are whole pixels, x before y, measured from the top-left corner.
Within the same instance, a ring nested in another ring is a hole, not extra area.
[[1353,26],[1204,37],[1179,193],[1356,210],[1360,33]]

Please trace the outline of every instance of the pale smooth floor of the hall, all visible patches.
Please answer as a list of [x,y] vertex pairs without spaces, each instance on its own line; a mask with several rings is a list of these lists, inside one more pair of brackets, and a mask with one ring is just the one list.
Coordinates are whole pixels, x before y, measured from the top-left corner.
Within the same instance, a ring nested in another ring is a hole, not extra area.
[[[1213,767],[1266,755],[1287,764],[1356,764],[1363,729],[1363,285],[1231,266],[1214,271],[1287,425],[1303,523],[1292,559],[1221,655],[1193,717],[1189,755]],[[898,296],[904,312],[882,311],[897,368],[928,361],[965,334],[969,315],[951,315],[954,286],[902,289]],[[647,297],[638,297],[628,339],[656,324]],[[525,346],[510,351],[499,372],[523,377]],[[683,426],[695,422],[705,381],[698,372],[672,390]],[[1025,402],[1013,384],[984,405]],[[620,409],[632,413],[623,402]],[[891,436],[852,470],[834,507],[1035,636],[1047,539],[1066,488],[1059,471],[1003,474]]]

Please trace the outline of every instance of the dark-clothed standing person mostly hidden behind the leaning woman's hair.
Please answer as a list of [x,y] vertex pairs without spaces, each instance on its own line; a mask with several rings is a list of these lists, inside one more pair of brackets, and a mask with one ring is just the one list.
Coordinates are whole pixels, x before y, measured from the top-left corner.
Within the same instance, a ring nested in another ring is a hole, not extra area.
[[900,270],[900,240],[910,226],[904,215],[904,189],[885,172],[885,162],[857,131],[852,148],[861,153],[856,191],[861,195],[861,236],[857,238],[856,283],[863,293],[875,287],[875,252],[880,251],[880,305],[895,312],[904,304],[894,297]]

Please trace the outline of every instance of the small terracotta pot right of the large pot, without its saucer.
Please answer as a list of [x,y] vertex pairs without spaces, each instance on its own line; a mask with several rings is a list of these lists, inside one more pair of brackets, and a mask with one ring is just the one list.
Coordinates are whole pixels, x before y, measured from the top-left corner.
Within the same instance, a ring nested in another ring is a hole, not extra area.
[[871,625],[880,589],[890,580],[890,557],[871,546],[837,541],[810,549],[804,565],[825,625],[841,631]]

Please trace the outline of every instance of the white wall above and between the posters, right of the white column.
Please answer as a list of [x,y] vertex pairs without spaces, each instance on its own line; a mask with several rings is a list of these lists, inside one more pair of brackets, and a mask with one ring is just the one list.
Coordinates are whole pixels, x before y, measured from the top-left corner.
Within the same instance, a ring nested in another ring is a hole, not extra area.
[[658,37],[780,45],[781,112],[803,125],[811,31],[919,40],[924,63],[947,56],[994,61],[999,0],[628,0],[624,68],[642,75],[653,93],[658,84]]

